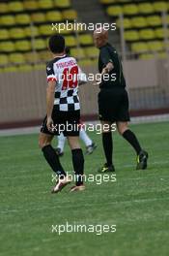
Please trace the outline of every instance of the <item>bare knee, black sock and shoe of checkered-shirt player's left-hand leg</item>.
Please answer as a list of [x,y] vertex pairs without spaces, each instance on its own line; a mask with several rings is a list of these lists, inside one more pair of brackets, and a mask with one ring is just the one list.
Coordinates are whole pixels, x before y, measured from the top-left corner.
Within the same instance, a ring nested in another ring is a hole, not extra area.
[[53,172],[59,177],[56,186],[53,188],[52,193],[61,191],[64,186],[70,183],[70,179],[67,177],[54,148],[51,146],[53,135],[41,133],[39,137],[39,145],[42,149],[43,156],[46,162],[49,164]]

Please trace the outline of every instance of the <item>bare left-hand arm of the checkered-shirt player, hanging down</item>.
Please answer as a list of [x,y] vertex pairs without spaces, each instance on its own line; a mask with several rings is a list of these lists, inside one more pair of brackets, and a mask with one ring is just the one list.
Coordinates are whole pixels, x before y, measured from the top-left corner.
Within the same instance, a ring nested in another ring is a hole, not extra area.
[[53,105],[54,105],[54,98],[55,98],[55,86],[56,81],[55,80],[49,80],[48,86],[46,88],[46,112],[47,112],[47,128],[50,130],[53,125],[52,120],[52,111],[53,111]]

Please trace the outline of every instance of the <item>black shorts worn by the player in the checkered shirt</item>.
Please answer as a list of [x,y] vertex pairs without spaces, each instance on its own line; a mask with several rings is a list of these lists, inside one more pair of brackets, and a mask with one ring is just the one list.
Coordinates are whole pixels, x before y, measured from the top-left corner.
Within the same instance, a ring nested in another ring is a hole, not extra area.
[[79,136],[80,130],[80,111],[59,112],[53,108],[52,112],[53,129],[48,131],[46,126],[46,116],[42,121],[41,132],[49,135],[60,135],[63,132],[64,136]]

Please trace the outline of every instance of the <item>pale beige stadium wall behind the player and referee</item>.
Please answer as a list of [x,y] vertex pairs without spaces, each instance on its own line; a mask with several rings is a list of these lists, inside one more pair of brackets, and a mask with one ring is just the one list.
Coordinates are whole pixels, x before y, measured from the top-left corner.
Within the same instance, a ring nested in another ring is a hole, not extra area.
[[[84,68],[86,74],[98,71]],[[169,59],[124,63],[131,112],[169,112]],[[45,114],[45,71],[0,74],[0,128],[38,124]],[[80,86],[82,115],[97,118],[98,86]]]

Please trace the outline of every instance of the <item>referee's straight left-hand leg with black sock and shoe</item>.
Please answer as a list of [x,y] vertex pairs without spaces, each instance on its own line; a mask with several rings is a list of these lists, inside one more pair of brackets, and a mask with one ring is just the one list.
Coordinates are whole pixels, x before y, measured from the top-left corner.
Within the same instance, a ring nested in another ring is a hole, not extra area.
[[113,166],[113,138],[111,132],[111,122],[101,121],[101,136],[106,163],[99,169],[99,172],[114,172],[115,168]]

